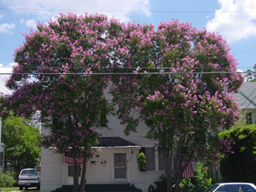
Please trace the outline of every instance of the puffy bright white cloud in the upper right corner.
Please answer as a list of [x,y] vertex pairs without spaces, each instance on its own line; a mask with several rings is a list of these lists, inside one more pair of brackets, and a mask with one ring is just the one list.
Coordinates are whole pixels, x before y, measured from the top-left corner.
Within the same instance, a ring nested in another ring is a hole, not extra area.
[[229,43],[256,37],[255,0],[218,0],[221,9],[208,21],[207,30],[219,32]]

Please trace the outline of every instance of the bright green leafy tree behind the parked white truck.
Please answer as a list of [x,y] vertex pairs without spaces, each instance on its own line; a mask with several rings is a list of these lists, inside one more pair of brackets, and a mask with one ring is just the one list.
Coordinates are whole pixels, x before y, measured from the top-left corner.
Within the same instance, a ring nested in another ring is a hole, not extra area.
[[23,168],[40,164],[40,132],[32,120],[10,115],[3,120],[2,142],[5,146],[4,167],[18,176]]

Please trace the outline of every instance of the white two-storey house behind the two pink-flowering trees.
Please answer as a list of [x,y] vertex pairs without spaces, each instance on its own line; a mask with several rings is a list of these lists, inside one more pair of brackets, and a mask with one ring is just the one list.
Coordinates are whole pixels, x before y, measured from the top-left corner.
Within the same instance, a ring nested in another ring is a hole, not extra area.
[[[96,129],[102,134],[102,152],[95,154],[87,163],[86,184],[131,183],[148,191],[149,185],[154,184],[164,173],[164,168],[158,153],[154,153],[154,141],[144,138],[148,132],[147,125],[140,125],[137,133],[126,137],[119,119],[113,116],[107,118],[112,130],[105,127]],[[42,134],[47,134],[47,130],[42,129]],[[140,150],[146,154],[145,172],[137,168],[137,154]],[[73,184],[73,166],[65,163],[64,158],[64,154],[55,153],[54,149],[41,149],[41,192]]]

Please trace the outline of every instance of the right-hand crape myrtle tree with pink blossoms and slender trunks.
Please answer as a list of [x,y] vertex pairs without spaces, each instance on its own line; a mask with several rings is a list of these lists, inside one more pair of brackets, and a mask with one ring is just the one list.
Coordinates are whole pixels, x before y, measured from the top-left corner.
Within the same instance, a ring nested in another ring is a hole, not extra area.
[[125,134],[137,131],[141,121],[148,125],[146,137],[158,142],[163,155],[167,191],[177,192],[182,160],[210,166],[230,151],[218,132],[239,119],[231,96],[243,80],[236,59],[221,35],[178,20],[160,23],[157,30],[128,24],[116,44],[114,64],[130,74],[116,76],[111,88]]

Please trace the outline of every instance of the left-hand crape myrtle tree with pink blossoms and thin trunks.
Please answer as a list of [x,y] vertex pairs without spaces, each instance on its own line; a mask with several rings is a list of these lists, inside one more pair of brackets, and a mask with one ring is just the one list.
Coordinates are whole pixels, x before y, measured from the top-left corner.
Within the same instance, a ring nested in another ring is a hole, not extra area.
[[[119,27],[104,15],[61,14],[39,23],[15,50],[17,64],[6,84],[13,92],[4,102],[22,116],[40,114],[49,130],[42,137],[44,148],[73,154],[73,192],[84,191],[86,160],[98,137],[91,126],[107,123],[100,117],[111,112],[103,93],[109,77],[92,73],[112,64],[111,37]],[[79,158],[84,158],[80,189]]]

